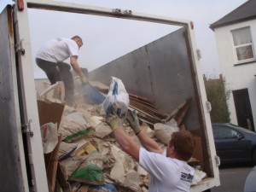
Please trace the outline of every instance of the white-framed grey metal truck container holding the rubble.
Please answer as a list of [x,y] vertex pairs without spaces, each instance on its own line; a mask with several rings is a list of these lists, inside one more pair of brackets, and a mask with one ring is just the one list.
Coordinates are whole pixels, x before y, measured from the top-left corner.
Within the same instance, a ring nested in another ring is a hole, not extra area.
[[[135,49],[90,72],[90,80],[109,84],[112,76],[122,79],[125,89],[154,102],[162,113],[170,114],[191,96],[183,119],[185,128],[199,138],[198,153],[207,177],[191,187],[204,191],[220,184],[211,105],[201,72],[200,51],[196,48],[193,22],[132,10],[107,9],[56,1],[17,0],[0,15],[0,190],[48,190],[44,153],[38,119],[38,103],[33,76],[33,58],[27,9],[49,9],[127,20],[143,20],[177,30]],[[136,39],[134,39],[136,40]]]

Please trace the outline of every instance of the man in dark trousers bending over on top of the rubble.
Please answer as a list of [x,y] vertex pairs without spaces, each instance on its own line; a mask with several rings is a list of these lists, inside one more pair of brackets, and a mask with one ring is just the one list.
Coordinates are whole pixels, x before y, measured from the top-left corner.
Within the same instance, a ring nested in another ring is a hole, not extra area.
[[65,100],[67,105],[72,106],[74,102],[74,82],[71,67],[63,62],[70,58],[70,64],[75,73],[86,83],[86,78],[79,67],[79,49],[83,45],[83,40],[79,36],[73,38],[54,38],[46,42],[36,55],[38,67],[44,70],[50,84],[56,81],[63,81],[65,86]]

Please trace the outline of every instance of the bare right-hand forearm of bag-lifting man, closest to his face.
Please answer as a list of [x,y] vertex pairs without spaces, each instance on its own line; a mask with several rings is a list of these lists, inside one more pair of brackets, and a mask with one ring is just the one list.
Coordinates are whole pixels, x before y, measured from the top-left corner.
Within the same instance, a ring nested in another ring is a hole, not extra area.
[[148,137],[144,131],[140,131],[137,134],[140,143],[142,143],[143,147],[146,148],[148,151],[162,154],[164,153],[164,149],[160,148],[159,144],[156,143],[152,138]]

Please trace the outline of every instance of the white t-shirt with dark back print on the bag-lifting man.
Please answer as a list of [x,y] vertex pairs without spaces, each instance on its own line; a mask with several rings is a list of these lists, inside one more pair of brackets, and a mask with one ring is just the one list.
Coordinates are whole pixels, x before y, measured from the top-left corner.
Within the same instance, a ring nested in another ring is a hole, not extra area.
[[195,170],[187,162],[140,148],[139,164],[150,174],[148,192],[189,192]]

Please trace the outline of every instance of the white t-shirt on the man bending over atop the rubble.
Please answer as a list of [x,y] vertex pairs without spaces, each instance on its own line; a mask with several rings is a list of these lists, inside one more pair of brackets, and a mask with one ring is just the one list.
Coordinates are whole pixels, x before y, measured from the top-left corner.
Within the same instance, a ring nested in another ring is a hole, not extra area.
[[71,56],[79,56],[79,45],[71,38],[54,38],[46,42],[39,50],[37,58],[61,62]]

